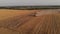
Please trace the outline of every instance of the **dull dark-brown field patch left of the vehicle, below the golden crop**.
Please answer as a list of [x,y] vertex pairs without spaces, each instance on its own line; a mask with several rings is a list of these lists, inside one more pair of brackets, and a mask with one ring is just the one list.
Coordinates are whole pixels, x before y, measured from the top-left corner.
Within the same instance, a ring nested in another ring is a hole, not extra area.
[[0,22],[0,24],[1,24],[0,26],[5,27],[5,28],[7,27],[7,28],[10,28],[10,29],[16,29],[19,26],[21,26],[22,24],[26,23],[31,18],[32,18],[32,16],[11,17],[11,18],[8,18],[8,19]]

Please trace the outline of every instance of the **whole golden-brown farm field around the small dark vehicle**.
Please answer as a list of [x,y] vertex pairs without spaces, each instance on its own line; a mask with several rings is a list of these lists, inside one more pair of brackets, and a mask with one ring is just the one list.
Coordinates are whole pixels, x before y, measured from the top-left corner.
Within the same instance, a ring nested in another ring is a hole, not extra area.
[[1,9],[0,34],[60,34],[60,12]]

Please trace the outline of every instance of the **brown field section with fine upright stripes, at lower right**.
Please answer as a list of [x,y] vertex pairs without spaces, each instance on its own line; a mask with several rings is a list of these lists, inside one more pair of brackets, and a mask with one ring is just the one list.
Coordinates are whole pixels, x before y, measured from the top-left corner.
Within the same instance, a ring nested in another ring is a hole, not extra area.
[[[47,15],[43,22],[35,27],[32,34],[60,34],[60,21],[56,20],[59,16]],[[60,17],[59,17],[60,20]]]

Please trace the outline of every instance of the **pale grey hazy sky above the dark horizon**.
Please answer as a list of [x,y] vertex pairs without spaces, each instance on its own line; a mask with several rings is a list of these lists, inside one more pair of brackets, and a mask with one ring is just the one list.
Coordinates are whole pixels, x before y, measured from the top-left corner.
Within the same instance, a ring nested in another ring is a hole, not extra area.
[[0,6],[60,5],[60,0],[0,0]]

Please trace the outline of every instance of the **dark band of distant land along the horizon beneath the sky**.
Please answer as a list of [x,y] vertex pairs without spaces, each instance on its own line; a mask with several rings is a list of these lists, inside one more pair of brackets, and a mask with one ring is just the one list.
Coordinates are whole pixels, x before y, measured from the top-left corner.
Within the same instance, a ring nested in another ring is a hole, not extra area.
[[40,9],[60,9],[60,6],[1,6],[0,9],[13,10],[40,10]]

